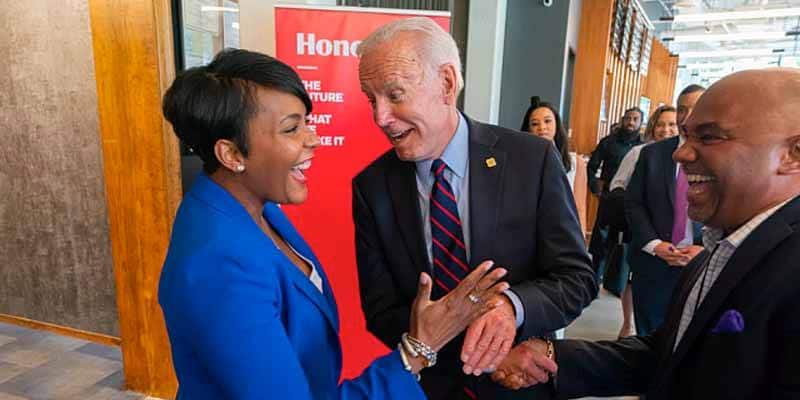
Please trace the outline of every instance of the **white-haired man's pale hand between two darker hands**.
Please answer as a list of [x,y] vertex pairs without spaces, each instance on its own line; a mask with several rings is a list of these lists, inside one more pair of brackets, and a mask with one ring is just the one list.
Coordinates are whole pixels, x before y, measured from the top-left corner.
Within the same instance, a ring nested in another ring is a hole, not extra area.
[[506,357],[517,334],[514,306],[501,294],[490,300],[500,304],[470,324],[461,349],[464,373],[480,375],[494,370]]

